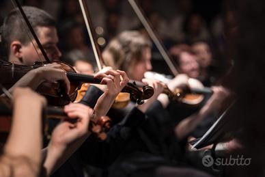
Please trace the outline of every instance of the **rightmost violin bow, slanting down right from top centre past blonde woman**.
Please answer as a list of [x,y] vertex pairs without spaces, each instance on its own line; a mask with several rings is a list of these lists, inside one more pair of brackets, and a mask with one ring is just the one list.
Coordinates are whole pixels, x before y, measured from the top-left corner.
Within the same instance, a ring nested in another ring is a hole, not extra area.
[[178,75],[178,70],[174,66],[172,59],[167,54],[167,51],[165,49],[165,46],[163,46],[163,43],[158,38],[157,33],[154,31],[154,28],[152,27],[150,21],[148,21],[148,18],[145,17],[143,10],[140,8],[139,3],[137,0],[128,0],[131,7],[135,11],[135,14],[138,16],[139,20],[141,21],[141,24],[143,27],[145,27],[146,31],[148,32],[150,38],[156,45],[158,51],[161,53],[162,57],[165,59],[165,62],[167,63],[167,66],[169,66],[169,69],[171,70],[172,74],[174,76]]

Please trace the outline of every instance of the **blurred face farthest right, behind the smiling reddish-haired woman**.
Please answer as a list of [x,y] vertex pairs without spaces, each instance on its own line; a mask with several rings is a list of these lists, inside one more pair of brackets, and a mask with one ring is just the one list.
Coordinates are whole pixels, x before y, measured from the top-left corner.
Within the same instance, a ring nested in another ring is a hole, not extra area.
[[210,46],[205,42],[196,42],[192,46],[196,59],[201,68],[207,68],[212,62],[212,52]]

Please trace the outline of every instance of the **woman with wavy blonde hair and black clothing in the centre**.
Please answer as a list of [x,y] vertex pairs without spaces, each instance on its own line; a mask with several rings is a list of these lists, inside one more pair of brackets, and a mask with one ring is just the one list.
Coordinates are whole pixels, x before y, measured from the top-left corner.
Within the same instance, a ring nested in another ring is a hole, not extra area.
[[[107,65],[123,69],[130,78],[141,81],[144,73],[152,69],[150,47],[149,40],[141,33],[124,31],[111,40],[102,55]],[[174,89],[187,79],[180,74],[169,87]],[[177,118],[169,115],[169,98],[161,92],[146,112],[148,119],[137,128],[129,146],[109,168],[109,176],[208,176],[189,167],[176,167],[184,151],[174,130]]]

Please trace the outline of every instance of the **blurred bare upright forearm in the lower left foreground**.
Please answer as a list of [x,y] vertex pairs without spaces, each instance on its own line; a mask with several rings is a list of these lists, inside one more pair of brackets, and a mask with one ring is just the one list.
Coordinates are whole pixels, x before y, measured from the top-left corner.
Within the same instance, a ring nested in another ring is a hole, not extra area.
[[14,156],[26,156],[40,162],[42,104],[25,103],[19,99],[14,103],[14,115],[10,137],[5,152]]

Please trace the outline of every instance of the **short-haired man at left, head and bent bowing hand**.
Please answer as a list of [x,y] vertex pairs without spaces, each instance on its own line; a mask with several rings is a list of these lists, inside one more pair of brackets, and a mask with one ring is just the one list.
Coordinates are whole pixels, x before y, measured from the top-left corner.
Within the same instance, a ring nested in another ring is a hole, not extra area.
[[[44,46],[47,55],[52,60],[59,60],[61,52],[57,48],[58,38],[55,28],[56,23],[53,18],[43,10],[37,8],[25,7],[23,9],[25,13],[31,13],[31,24],[37,32],[37,36],[40,38],[40,42]],[[42,55],[38,55],[40,51],[38,50],[38,53],[36,53],[31,39],[27,35],[27,29],[23,26],[16,10],[12,10],[5,18],[2,27],[2,38],[4,51],[8,55],[9,62],[23,65],[32,65],[36,61],[44,62],[44,58],[40,57]],[[33,90],[36,90],[38,85],[44,81],[53,82],[59,80],[64,81],[66,92],[69,92],[70,82],[66,77],[66,72],[58,64],[47,64],[46,66],[28,72],[14,87],[29,86]]]

